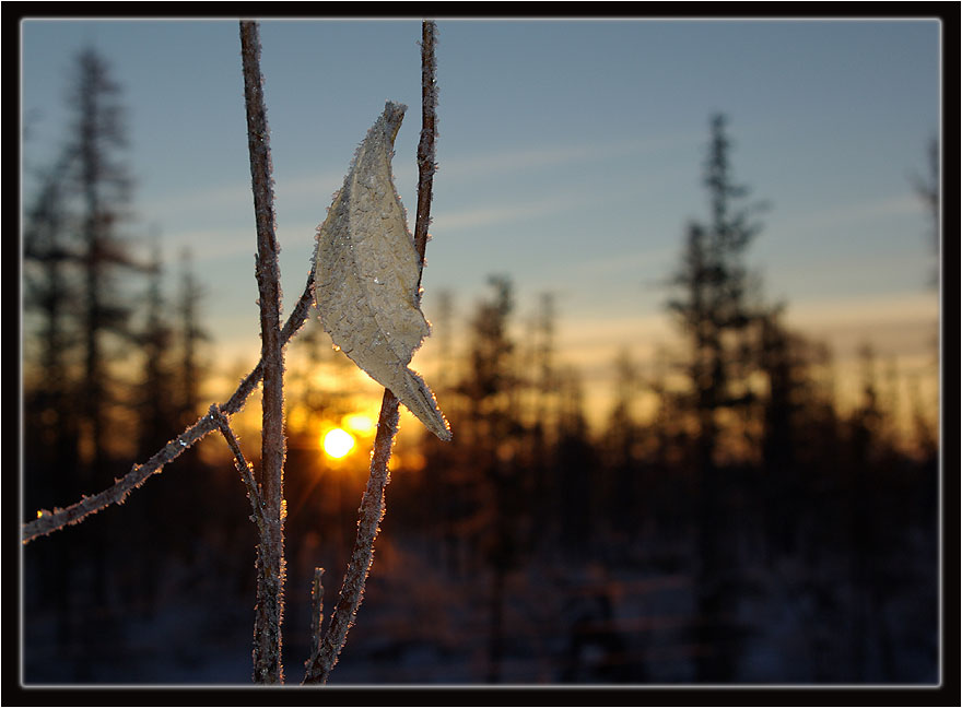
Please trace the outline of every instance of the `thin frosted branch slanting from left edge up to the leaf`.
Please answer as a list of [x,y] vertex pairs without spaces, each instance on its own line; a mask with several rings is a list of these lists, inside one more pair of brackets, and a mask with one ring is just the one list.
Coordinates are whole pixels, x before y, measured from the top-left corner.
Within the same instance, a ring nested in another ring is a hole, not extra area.
[[[294,306],[284,328],[281,330],[281,341],[286,344],[296,334],[310,312],[314,304],[314,267],[307,274],[307,285],[297,304]],[[241,380],[237,390],[231,396],[226,403],[220,406],[220,410],[233,415],[244,408],[247,398],[257,388],[260,379],[263,378],[263,359],[257,363],[257,366]],[[133,489],[140,487],[152,474],[160,473],[164,465],[176,460],[180,455],[189,449],[195,442],[216,429],[216,423],[209,414],[202,415],[198,421],[186,428],[180,435],[167,442],[161,450],[155,452],[153,457],[142,464],[134,464],[130,472],[120,479],[115,480],[115,484],[93,496],[84,496],[69,507],[55,507],[52,511],[42,509],[37,511],[37,518],[33,521],[24,523],[22,527],[21,541],[24,544],[48,535],[55,531],[67,528],[75,523],[80,523],[92,514],[96,514],[112,504],[124,504],[127,495]]]

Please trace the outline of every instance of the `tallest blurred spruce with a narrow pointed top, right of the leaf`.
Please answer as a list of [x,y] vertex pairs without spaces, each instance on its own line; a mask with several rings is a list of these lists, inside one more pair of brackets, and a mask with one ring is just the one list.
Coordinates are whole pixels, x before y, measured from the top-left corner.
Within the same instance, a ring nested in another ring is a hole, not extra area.
[[723,115],[712,117],[704,173],[711,216],[705,224],[689,225],[681,266],[671,281],[678,295],[668,302],[669,312],[689,341],[688,378],[697,426],[700,682],[736,677],[735,628],[724,617],[735,611],[737,558],[732,519],[724,503],[727,485],[719,479],[718,467],[723,434],[732,432],[723,429],[719,414],[737,413],[750,400],[744,341],[758,317],[743,260],[760,231],[754,221],[759,206],[746,204],[748,189],[734,180],[731,142],[725,128]]

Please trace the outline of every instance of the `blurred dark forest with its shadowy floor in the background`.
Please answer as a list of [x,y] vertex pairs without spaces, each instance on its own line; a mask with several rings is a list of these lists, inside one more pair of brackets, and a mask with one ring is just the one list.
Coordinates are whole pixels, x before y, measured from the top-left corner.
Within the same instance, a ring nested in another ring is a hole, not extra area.
[[[231,392],[202,398],[218,343],[189,253],[167,293],[160,238],[142,255],[128,236],[120,87],[93,50],[74,69],[62,153],[26,161],[27,520],[108,487]],[[556,350],[550,295],[521,321],[513,276],[492,274],[459,329],[454,296],[441,298],[427,379],[454,438],[402,427],[332,684],[938,682],[938,412],[898,398],[916,389],[870,343],[843,410],[829,347],[793,331],[746,264],[765,206],[735,178],[725,116],[709,117],[706,145],[692,170],[709,210],[684,225],[665,279],[681,345],[611,364],[600,433]],[[936,143],[930,157],[915,188],[937,253]],[[314,566],[336,590],[347,564],[366,450],[320,452],[321,425],[357,397],[316,319],[288,353],[294,664]],[[896,422],[906,410],[912,430]],[[223,447],[206,440],[124,506],[24,547],[26,684],[249,683],[257,539]]]

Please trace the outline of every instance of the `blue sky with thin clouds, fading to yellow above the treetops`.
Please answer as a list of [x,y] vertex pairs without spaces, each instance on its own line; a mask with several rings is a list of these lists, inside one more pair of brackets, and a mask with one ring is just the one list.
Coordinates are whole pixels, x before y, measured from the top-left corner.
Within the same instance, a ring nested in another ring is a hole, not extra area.
[[[505,273],[519,319],[554,293],[562,356],[599,386],[619,349],[642,359],[667,343],[659,283],[685,223],[706,215],[702,161],[722,111],[736,178],[771,203],[749,257],[766,295],[840,347],[864,334],[906,362],[930,353],[935,257],[910,175],[926,174],[940,129],[938,22],[442,17],[438,31],[429,319],[441,290],[466,316]],[[72,58],[95,46],[129,110],[130,233],[146,252],[159,231],[172,270],[189,246],[218,344],[255,356],[237,23],[26,21],[22,38],[26,165],[61,144]],[[419,39],[418,20],[262,22],[288,309],[388,99],[410,107],[394,169],[413,219]]]

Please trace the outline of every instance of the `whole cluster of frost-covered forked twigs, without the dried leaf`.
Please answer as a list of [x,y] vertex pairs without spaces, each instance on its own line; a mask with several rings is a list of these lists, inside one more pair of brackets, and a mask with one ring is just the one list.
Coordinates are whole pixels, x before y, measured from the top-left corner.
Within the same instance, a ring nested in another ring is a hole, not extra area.
[[[434,47],[436,24],[422,23],[422,128],[418,145],[418,212],[414,227],[414,248],[420,273],[424,268],[427,227],[431,223],[433,175],[436,168],[434,142],[436,137],[437,86]],[[256,683],[283,683],[281,662],[281,623],[283,618],[283,347],[301,329],[314,303],[315,269],[312,263],[307,284],[293,311],[280,327],[280,282],[277,256],[279,246],[274,235],[273,194],[269,131],[263,105],[262,76],[259,58],[260,43],[256,22],[241,22],[242,58],[245,79],[245,98],[248,119],[248,149],[257,221],[258,255],[256,275],[260,291],[261,356],[257,366],[241,381],[233,396],[223,405],[212,404],[208,413],[168,441],[143,464],[134,464],[125,476],[115,480],[107,489],[83,496],[80,502],[52,511],[42,509],[37,518],[22,526],[21,541],[30,543],[42,535],[80,523],[112,504],[122,504],[127,495],[142,485],[152,474],[161,472],[168,462],[179,457],[195,442],[213,430],[219,430],[227,442],[234,465],[250,499],[251,520],[257,524],[260,543],[257,553],[258,604],[255,620],[254,680]],[[236,435],[231,428],[230,415],[243,409],[247,398],[263,379],[262,460],[263,486],[254,476],[253,467],[244,457]],[[398,399],[385,389],[377,435],[371,456],[367,486],[361,499],[357,536],[351,560],[344,575],[329,626],[321,632],[324,620],[321,578],[322,568],[316,568],[310,591],[312,654],[305,662],[303,684],[325,684],[344,646],[348,630],[354,622],[364,592],[364,585],[374,556],[374,542],[385,512],[384,493],[390,482],[388,461],[398,433]]]

